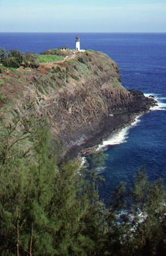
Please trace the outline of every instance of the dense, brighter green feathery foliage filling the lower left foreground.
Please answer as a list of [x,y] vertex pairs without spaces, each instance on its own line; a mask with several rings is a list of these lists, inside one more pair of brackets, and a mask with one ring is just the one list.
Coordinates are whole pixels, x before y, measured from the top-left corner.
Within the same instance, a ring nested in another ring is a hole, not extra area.
[[22,123],[15,115],[1,129],[1,255],[96,255],[103,222],[98,175],[91,172],[88,181],[77,162],[58,165],[49,129],[22,134]]

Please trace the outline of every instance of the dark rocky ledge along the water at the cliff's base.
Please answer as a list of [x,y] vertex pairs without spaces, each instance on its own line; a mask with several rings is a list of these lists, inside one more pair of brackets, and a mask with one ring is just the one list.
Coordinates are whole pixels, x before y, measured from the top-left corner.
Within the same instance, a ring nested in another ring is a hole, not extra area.
[[[137,95],[139,99],[137,106],[133,106],[133,108],[126,109],[125,111],[115,111],[114,114],[107,116],[107,118],[103,120],[103,124],[99,124],[99,127],[103,125],[100,131],[94,134],[92,132],[91,138],[87,139],[82,144],[77,144],[70,148],[63,159],[76,159],[79,156],[91,154],[91,152],[94,152],[94,148],[102,144],[103,140],[111,138],[119,130],[130,126],[137,116],[148,113],[152,106],[157,105],[157,101],[153,97],[144,97],[143,93],[137,90],[129,91],[135,96]],[[142,106],[143,102],[144,106]]]

